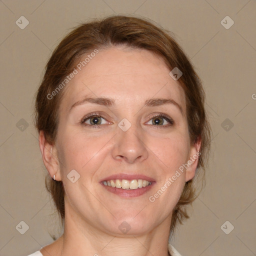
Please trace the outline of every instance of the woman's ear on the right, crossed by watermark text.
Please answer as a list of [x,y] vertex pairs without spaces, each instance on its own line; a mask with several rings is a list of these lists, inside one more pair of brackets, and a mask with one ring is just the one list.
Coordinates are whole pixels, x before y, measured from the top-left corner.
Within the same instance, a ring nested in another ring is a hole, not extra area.
[[188,181],[192,179],[195,175],[195,170],[198,164],[198,158],[200,157],[200,147],[201,147],[201,138],[198,137],[196,142],[194,142],[190,147],[189,158],[187,159],[188,167],[186,168],[186,179]]

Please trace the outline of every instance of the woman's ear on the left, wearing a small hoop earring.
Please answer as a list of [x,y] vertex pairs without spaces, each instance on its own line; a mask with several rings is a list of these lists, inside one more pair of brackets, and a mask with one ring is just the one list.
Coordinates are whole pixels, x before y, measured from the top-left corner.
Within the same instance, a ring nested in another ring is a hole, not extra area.
[[56,147],[48,143],[45,139],[44,131],[39,131],[39,147],[42,154],[42,160],[44,166],[53,178],[55,174],[55,180],[61,180],[59,173],[59,161],[56,154]]

